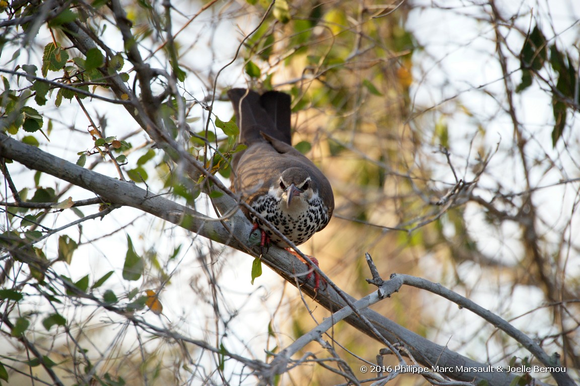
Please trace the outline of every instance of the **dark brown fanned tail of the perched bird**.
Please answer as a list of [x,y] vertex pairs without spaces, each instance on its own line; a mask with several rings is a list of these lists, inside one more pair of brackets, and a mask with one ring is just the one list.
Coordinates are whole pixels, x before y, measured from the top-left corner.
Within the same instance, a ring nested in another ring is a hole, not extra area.
[[231,89],[227,95],[234,106],[242,144],[264,141],[264,133],[291,145],[290,95],[280,91],[260,95],[247,89]]

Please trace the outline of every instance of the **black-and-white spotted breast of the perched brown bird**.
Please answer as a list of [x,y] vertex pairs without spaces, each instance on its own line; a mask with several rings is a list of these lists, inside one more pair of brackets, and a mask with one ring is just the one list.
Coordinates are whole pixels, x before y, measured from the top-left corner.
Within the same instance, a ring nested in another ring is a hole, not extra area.
[[[285,205],[282,200],[270,194],[263,194],[253,201],[252,207],[290,241],[300,245],[318,230],[324,228],[330,220],[328,218],[328,209],[324,207],[321,198],[315,197],[308,204],[305,210],[289,214],[287,211],[282,210],[281,205]],[[252,216],[252,221],[258,223],[260,228],[266,231],[274,244],[280,247],[288,247],[280,237],[276,236],[270,229],[267,229],[266,226],[263,226],[263,223],[255,216]]]

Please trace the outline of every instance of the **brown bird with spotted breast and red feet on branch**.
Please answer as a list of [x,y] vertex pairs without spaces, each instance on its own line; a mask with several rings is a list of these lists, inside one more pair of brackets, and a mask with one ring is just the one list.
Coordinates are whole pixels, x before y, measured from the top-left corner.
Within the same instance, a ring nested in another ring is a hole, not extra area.
[[[240,128],[238,142],[247,146],[231,160],[233,191],[293,244],[303,244],[328,225],[334,195],[320,169],[292,146],[290,95],[237,88],[227,95]],[[242,212],[262,232],[260,246],[290,247],[247,208]]]

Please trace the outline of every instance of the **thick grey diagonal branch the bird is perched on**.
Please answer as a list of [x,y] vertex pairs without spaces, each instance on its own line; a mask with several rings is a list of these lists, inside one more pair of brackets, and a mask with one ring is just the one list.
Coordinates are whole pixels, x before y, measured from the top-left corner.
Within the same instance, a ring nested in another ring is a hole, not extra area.
[[[151,194],[136,186],[135,183],[119,181],[118,179],[86,170],[59,157],[50,155],[34,146],[23,144],[5,134],[0,134],[0,157],[12,159],[33,170],[39,170],[73,183],[102,196],[104,201],[140,209],[179,225],[184,229],[193,231],[200,236],[219,242],[220,244],[229,245],[232,248],[250,253],[253,256],[258,255],[238,241],[247,240],[251,230],[251,224],[241,211],[237,211],[231,218],[224,221],[229,227],[230,233],[220,221],[209,218],[161,196]],[[231,206],[235,205],[235,201],[226,194],[220,198],[229,200]],[[269,253],[262,257],[262,261],[293,285],[298,285],[296,271],[306,271],[305,265],[295,258],[295,256],[277,247],[271,247]],[[313,285],[307,282],[300,286],[300,288],[308,296],[316,300],[318,304],[321,304],[321,306],[331,312],[347,307],[347,303],[356,302],[356,299],[345,293],[339,293],[332,286],[328,286],[324,292],[315,292]],[[343,298],[346,298],[348,302]],[[397,325],[397,323],[394,323],[375,311],[369,310],[368,308],[362,310],[357,310],[356,307],[349,308],[353,312],[344,311],[345,314],[349,314],[344,319],[347,323],[373,339],[403,344],[422,365],[433,366],[437,364],[441,367],[451,367],[452,369],[455,369],[455,366],[473,368],[481,368],[484,366],[482,363],[459,355],[456,352],[448,350],[446,347],[435,344]],[[357,314],[362,318],[357,316]],[[364,319],[367,319],[374,326],[376,333],[369,329]],[[377,336],[377,333],[380,336]],[[466,372],[459,374],[449,372],[444,373],[444,375],[460,381],[485,380],[488,384],[495,386],[509,386],[514,378],[512,374],[508,373]],[[563,383],[562,385],[572,384]]]

